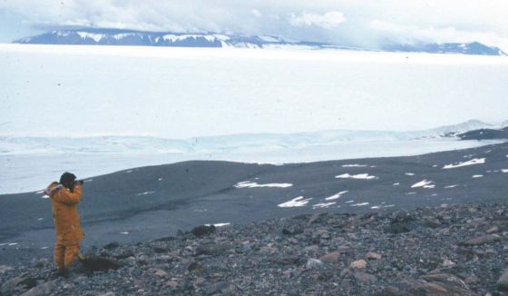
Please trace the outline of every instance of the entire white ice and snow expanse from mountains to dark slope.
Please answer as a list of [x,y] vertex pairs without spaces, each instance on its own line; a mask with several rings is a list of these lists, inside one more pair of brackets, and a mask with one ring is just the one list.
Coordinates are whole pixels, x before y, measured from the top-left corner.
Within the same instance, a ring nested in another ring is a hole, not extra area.
[[0,194],[64,171],[470,148],[496,142],[439,135],[508,110],[505,56],[0,44],[0,67]]

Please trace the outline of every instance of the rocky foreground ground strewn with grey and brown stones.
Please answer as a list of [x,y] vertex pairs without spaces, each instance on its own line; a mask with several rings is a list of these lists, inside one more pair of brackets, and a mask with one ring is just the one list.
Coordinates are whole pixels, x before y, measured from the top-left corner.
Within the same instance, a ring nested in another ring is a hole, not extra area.
[[508,208],[306,214],[87,256],[69,278],[47,258],[0,266],[1,294],[508,295]]

